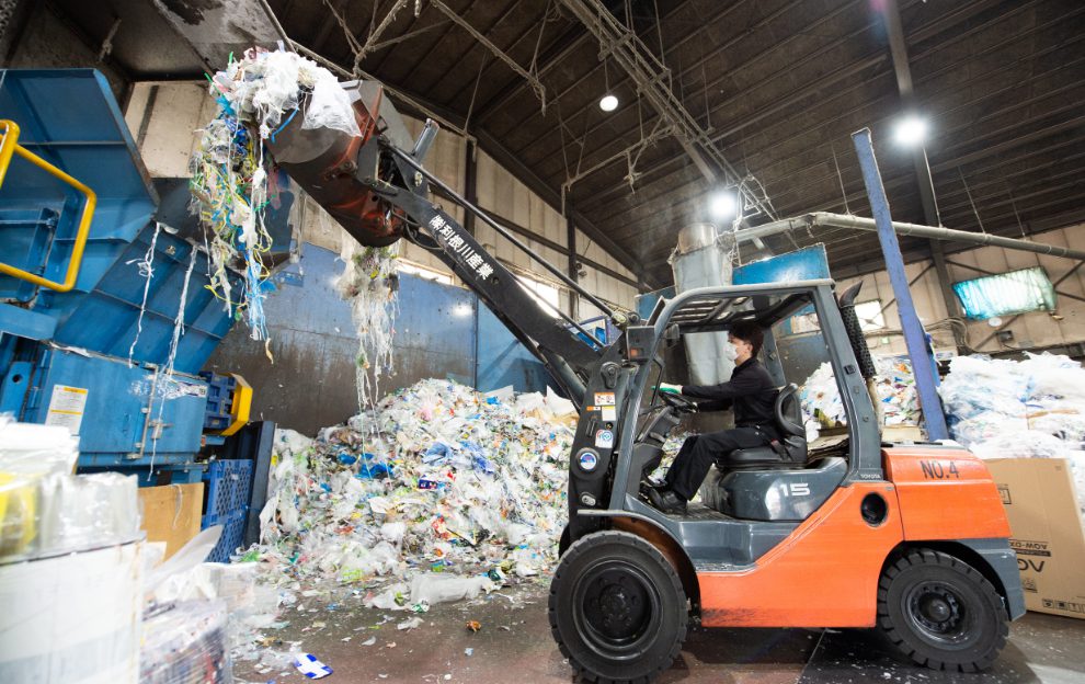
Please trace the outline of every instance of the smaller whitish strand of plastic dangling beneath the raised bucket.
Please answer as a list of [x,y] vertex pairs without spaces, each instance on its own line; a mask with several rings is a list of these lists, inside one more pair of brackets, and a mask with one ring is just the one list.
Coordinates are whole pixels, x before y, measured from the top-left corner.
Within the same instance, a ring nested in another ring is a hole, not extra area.
[[351,318],[358,333],[355,374],[359,409],[372,404],[381,374],[391,368],[398,256],[398,242],[363,247],[347,240],[343,244],[341,258],[346,267],[338,286],[340,295],[351,303]]

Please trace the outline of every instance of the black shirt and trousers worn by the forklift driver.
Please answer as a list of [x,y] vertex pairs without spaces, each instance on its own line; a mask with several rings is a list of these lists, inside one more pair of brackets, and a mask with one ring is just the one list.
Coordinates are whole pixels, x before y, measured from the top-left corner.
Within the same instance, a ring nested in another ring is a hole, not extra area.
[[734,408],[734,429],[686,437],[666,471],[666,483],[686,501],[708,475],[713,461],[721,463],[738,448],[766,446],[779,438],[776,430],[776,386],[768,371],[756,358],[735,366],[731,379],[719,385],[684,385],[682,395],[698,402],[701,410]]

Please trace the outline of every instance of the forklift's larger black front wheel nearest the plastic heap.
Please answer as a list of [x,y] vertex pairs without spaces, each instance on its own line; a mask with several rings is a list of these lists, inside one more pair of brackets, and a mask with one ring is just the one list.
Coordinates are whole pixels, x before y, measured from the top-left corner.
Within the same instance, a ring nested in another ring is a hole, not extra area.
[[553,639],[587,682],[651,682],[686,638],[678,573],[627,532],[596,532],[570,546],[550,582],[549,606]]

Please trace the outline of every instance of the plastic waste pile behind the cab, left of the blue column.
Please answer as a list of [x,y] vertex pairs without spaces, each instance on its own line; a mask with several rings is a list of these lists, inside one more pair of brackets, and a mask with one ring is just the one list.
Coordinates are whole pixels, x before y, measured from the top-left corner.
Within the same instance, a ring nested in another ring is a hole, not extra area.
[[[875,356],[873,361],[883,423],[915,425],[920,420],[920,402],[911,362],[900,356]],[[846,422],[836,378],[827,361],[802,384],[799,399],[809,429],[832,428]]]

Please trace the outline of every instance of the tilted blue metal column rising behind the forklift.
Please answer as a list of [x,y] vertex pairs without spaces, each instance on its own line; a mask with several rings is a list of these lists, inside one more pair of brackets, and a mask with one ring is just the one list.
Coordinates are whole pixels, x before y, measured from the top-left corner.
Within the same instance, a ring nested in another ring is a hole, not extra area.
[[870,198],[870,210],[878,226],[878,241],[881,253],[886,259],[886,270],[889,282],[896,297],[896,310],[904,331],[904,342],[907,354],[912,360],[912,373],[915,375],[915,388],[920,395],[920,407],[923,409],[923,421],[926,423],[927,437],[946,440],[949,430],[946,428],[946,414],[943,412],[941,400],[938,398],[938,371],[935,366],[927,333],[915,314],[912,292],[907,286],[907,275],[904,272],[904,259],[901,256],[901,246],[893,230],[893,218],[889,212],[889,198],[878,171],[878,160],[875,158],[873,145],[870,141],[870,129],[864,128],[852,134],[855,152],[859,158],[863,170],[863,183]]

